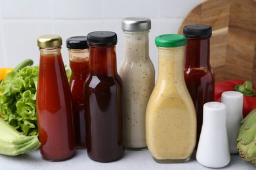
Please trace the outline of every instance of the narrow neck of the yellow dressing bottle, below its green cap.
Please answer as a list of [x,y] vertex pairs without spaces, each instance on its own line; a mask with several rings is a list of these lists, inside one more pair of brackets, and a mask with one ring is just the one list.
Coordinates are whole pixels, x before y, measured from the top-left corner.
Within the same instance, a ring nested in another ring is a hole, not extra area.
[[164,80],[169,85],[180,84],[183,75],[184,46],[175,48],[158,47],[158,81]]

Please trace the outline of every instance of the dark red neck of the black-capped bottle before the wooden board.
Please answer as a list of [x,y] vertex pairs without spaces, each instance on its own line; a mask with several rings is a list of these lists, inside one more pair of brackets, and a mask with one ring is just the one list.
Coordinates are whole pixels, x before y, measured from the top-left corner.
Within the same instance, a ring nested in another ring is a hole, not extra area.
[[187,38],[184,68],[210,67],[210,38]]

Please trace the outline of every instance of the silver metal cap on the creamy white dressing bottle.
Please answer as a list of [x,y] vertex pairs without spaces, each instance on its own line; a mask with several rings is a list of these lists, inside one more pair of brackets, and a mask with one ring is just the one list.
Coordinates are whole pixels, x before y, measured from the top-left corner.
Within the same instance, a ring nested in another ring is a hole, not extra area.
[[151,29],[151,20],[144,17],[124,18],[121,22],[124,31],[147,31]]

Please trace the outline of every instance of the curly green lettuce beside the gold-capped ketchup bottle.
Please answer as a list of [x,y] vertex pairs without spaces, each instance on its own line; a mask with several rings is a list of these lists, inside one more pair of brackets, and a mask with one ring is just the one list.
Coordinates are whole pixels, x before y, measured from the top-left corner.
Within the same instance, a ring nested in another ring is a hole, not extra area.
[[8,73],[0,83],[0,117],[26,136],[37,135],[38,66]]

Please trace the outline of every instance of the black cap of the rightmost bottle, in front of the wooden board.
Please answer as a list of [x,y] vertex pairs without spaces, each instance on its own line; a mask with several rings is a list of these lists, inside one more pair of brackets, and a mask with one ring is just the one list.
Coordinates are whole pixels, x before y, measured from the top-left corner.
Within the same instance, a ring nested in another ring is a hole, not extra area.
[[186,25],[183,28],[183,35],[191,38],[211,37],[210,25]]

